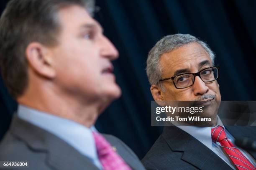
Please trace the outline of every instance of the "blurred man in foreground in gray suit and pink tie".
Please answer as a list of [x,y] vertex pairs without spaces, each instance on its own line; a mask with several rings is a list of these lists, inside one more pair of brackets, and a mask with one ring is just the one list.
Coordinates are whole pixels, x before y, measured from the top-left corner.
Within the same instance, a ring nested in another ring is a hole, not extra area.
[[116,137],[94,127],[120,94],[118,51],[91,15],[91,0],[11,0],[0,19],[0,63],[18,111],[0,161],[30,169],[144,169]]

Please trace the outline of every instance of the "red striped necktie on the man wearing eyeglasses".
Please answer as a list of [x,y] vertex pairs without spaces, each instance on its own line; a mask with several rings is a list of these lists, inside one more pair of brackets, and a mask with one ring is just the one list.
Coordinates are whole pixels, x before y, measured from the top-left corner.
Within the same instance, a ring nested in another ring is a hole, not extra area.
[[221,126],[212,128],[212,141],[219,142],[230,160],[238,170],[256,170],[251,162],[236,148],[227,138],[225,130]]

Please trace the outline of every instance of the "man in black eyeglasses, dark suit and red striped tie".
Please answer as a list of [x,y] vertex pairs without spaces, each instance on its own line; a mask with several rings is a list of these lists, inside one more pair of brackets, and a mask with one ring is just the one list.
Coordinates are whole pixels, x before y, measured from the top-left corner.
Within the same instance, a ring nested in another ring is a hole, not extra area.
[[[212,121],[205,127],[166,126],[142,160],[147,169],[255,170],[255,152],[233,144],[246,127],[219,126],[219,68],[214,58],[206,43],[188,34],[166,36],[149,52],[146,71],[154,100],[198,101],[210,107]],[[251,127],[247,132],[256,135]]]

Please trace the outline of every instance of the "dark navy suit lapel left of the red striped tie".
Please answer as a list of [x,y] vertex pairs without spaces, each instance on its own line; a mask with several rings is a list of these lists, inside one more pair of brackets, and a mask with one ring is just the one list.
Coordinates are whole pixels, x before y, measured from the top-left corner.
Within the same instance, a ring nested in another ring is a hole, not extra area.
[[184,152],[182,160],[201,170],[232,169],[208,147],[178,127],[165,127],[163,137],[173,151]]

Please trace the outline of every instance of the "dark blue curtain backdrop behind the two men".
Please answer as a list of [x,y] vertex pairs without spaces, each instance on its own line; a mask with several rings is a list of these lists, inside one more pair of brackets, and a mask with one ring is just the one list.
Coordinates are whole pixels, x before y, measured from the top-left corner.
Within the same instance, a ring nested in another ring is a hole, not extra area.
[[[0,2],[0,12],[7,2]],[[119,137],[139,158],[162,130],[150,124],[145,67],[148,51],[163,36],[189,33],[206,41],[220,66],[222,100],[256,100],[256,0],[97,0],[97,6],[95,18],[120,52],[114,72],[123,95],[96,127]],[[0,139],[16,108],[0,79]]]

